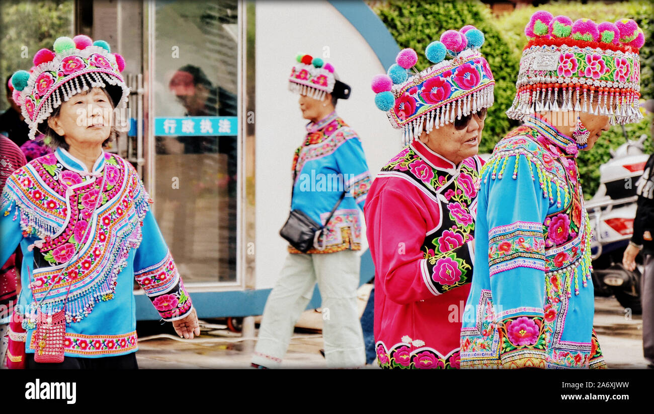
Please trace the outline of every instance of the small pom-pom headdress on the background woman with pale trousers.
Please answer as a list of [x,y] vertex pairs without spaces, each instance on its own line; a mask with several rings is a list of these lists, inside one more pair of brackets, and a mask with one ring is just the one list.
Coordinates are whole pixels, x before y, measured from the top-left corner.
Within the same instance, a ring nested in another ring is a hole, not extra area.
[[289,90],[317,100],[323,100],[327,94],[338,99],[350,97],[352,88],[336,79],[332,64],[308,54],[298,54],[296,60],[288,77]]

